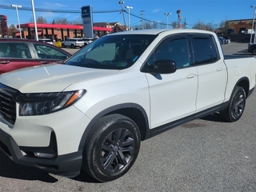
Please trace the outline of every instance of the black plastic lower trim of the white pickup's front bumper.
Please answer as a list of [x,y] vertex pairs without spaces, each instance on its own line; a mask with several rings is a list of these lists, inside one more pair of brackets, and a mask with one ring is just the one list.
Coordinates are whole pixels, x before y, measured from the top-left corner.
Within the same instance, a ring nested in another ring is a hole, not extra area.
[[10,134],[0,129],[0,148],[16,163],[33,166],[52,174],[74,177],[80,174],[82,166],[82,150],[71,154],[58,155],[53,159],[26,157]]

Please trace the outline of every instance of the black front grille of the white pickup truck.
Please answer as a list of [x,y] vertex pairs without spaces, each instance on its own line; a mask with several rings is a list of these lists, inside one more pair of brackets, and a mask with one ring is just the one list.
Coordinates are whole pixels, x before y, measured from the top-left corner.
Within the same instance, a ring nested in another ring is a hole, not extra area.
[[14,124],[16,120],[16,102],[13,98],[15,93],[17,90],[0,83],[0,114],[11,124]]

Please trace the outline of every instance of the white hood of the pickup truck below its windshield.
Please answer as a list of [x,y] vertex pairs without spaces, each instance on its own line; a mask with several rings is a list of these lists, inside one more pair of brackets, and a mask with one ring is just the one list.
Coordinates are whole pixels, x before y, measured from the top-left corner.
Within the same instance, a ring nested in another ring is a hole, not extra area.
[[78,66],[51,64],[14,70],[0,75],[0,82],[22,93],[58,92],[76,82],[86,82],[118,73]]

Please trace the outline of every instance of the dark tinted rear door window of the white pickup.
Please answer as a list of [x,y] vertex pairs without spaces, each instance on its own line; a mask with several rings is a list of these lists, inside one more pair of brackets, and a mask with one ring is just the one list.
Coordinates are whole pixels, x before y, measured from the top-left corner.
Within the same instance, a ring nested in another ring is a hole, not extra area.
[[194,64],[202,65],[218,61],[216,45],[211,35],[193,37]]

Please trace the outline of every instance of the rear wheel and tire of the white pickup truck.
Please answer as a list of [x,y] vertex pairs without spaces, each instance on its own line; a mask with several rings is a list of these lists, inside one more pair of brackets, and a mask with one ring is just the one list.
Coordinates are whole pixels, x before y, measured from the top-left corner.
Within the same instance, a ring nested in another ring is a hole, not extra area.
[[236,122],[242,117],[246,106],[246,92],[241,86],[235,86],[230,97],[230,104],[221,115],[227,122]]

